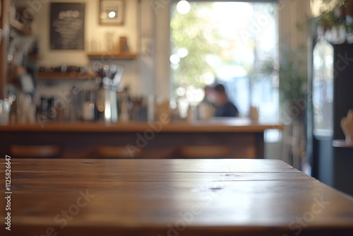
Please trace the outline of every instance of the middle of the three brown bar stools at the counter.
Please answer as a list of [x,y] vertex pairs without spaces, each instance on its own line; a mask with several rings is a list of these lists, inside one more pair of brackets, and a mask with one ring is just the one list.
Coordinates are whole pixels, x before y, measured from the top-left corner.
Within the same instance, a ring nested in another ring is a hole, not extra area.
[[140,157],[140,151],[129,151],[126,146],[97,146],[97,158],[131,159]]

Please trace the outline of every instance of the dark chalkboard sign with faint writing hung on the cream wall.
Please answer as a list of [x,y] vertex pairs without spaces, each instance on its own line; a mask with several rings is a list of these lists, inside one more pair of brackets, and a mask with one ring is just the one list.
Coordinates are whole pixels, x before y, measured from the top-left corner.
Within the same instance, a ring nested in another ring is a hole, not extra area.
[[50,49],[83,50],[85,4],[50,4]]

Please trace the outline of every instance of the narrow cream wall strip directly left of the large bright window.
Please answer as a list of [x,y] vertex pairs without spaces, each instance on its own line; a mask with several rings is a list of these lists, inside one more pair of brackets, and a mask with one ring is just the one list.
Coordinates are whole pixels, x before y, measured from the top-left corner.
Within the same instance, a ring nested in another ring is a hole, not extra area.
[[169,99],[169,2],[140,0],[140,93]]

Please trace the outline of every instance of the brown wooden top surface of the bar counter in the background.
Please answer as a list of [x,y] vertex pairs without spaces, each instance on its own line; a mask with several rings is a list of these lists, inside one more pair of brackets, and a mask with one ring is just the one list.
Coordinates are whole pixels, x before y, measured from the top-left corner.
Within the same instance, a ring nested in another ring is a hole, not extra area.
[[152,129],[155,132],[169,133],[253,133],[263,132],[265,129],[285,129],[278,123],[251,122],[249,119],[211,119],[209,121],[172,122],[163,123],[157,121],[154,124],[148,122],[104,123],[104,122],[46,122],[44,124],[9,124],[0,126],[0,132],[144,132]]

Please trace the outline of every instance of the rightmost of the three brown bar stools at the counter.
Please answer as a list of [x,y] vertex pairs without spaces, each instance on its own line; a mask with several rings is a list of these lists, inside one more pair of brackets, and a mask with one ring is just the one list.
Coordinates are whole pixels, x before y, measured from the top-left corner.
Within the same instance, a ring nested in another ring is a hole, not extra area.
[[229,146],[180,146],[181,158],[230,158],[232,155]]

